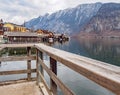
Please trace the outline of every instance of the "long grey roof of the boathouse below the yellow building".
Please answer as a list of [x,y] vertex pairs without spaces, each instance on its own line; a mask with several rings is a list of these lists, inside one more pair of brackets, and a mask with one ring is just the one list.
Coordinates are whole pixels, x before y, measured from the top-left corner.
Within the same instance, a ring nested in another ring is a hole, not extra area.
[[37,33],[33,32],[4,32],[6,36],[29,36],[29,37],[37,37]]

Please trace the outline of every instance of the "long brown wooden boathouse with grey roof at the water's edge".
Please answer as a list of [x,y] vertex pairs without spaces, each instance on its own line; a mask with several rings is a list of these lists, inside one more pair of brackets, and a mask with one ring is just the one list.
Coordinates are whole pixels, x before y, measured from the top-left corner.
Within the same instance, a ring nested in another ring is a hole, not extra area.
[[37,33],[32,32],[5,32],[4,39],[7,43],[30,43],[40,41]]

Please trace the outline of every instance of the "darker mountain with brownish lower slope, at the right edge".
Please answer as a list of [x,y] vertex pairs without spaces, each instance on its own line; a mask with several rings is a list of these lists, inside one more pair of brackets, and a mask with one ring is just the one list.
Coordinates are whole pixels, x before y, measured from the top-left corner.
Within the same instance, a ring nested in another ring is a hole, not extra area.
[[81,29],[80,36],[120,36],[120,4],[106,3]]

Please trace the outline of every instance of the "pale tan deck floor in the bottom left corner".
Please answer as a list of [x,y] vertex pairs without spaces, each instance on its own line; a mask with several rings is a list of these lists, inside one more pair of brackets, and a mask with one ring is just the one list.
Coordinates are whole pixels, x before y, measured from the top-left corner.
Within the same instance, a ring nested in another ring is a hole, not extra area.
[[36,82],[23,82],[0,86],[1,95],[43,95]]

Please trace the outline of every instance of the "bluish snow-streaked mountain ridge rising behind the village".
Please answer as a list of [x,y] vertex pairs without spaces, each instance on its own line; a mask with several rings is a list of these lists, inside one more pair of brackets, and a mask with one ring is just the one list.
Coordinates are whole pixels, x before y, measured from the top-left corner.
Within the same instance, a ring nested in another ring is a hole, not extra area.
[[97,14],[101,6],[102,3],[82,4],[75,8],[39,16],[38,18],[26,22],[25,26],[27,28],[76,34],[94,15]]

